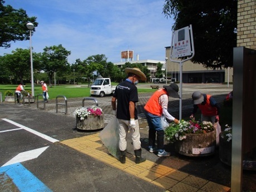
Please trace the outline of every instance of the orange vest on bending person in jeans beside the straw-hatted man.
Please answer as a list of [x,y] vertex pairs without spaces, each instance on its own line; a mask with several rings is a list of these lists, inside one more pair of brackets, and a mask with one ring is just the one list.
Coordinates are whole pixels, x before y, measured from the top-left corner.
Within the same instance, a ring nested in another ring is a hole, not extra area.
[[162,106],[159,104],[159,97],[161,95],[167,95],[167,92],[164,88],[157,90],[147,101],[144,109],[150,114],[161,116],[163,114]]

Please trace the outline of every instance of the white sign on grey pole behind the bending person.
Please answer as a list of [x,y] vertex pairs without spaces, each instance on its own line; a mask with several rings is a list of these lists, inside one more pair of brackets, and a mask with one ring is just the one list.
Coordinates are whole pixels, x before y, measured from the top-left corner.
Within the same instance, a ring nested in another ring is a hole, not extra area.
[[[170,60],[179,63],[180,71],[180,113],[182,119],[182,68],[183,62],[190,60],[195,55],[192,25],[178,29],[173,32],[171,39]],[[184,60],[181,57],[185,57]],[[187,58],[188,57],[188,58]],[[173,58],[176,58],[174,60]]]

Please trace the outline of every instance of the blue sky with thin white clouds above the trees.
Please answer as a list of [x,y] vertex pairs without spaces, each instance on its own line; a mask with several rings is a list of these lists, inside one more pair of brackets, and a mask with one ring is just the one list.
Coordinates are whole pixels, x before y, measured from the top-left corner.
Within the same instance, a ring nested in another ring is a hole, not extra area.
[[[134,51],[134,60],[165,61],[171,44],[173,18],[163,12],[164,0],[5,0],[37,17],[33,52],[62,45],[71,51],[68,62],[104,54],[107,62],[121,62],[121,51]],[[29,40],[0,47],[0,55],[29,48]],[[122,59],[125,61],[125,59]]]

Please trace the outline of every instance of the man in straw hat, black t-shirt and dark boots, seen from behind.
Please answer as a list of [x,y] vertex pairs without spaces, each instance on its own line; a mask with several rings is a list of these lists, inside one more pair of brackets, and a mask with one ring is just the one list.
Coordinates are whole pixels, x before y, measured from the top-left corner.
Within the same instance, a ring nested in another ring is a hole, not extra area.
[[[141,157],[140,128],[137,117],[136,102],[139,101],[137,83],[139,80],[146,81],[146,76],[139,68],[126,68],[128,75],[125,81],[116,86],[111,105],[114,115],[119,122],[119,149],[121,163],[125,163],[127,141],[126,136],[129,129],[132,129],[132,145],[134,146],[135,163],[139,164],[146,159]],[[116,107],[117,100],[117,107]]]

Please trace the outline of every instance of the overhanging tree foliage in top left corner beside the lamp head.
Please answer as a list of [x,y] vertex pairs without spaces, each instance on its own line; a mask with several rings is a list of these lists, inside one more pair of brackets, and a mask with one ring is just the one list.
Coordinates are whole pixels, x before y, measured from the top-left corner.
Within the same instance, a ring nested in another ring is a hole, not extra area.
[[[28,17],[23,9],[14,9],[12,6],[3,6],[0,0],[0,47],[11,47],[9,42],[29,40],[27,23],[38,26],[36,17]],[[35,28],[33,29],[35,31]]]

